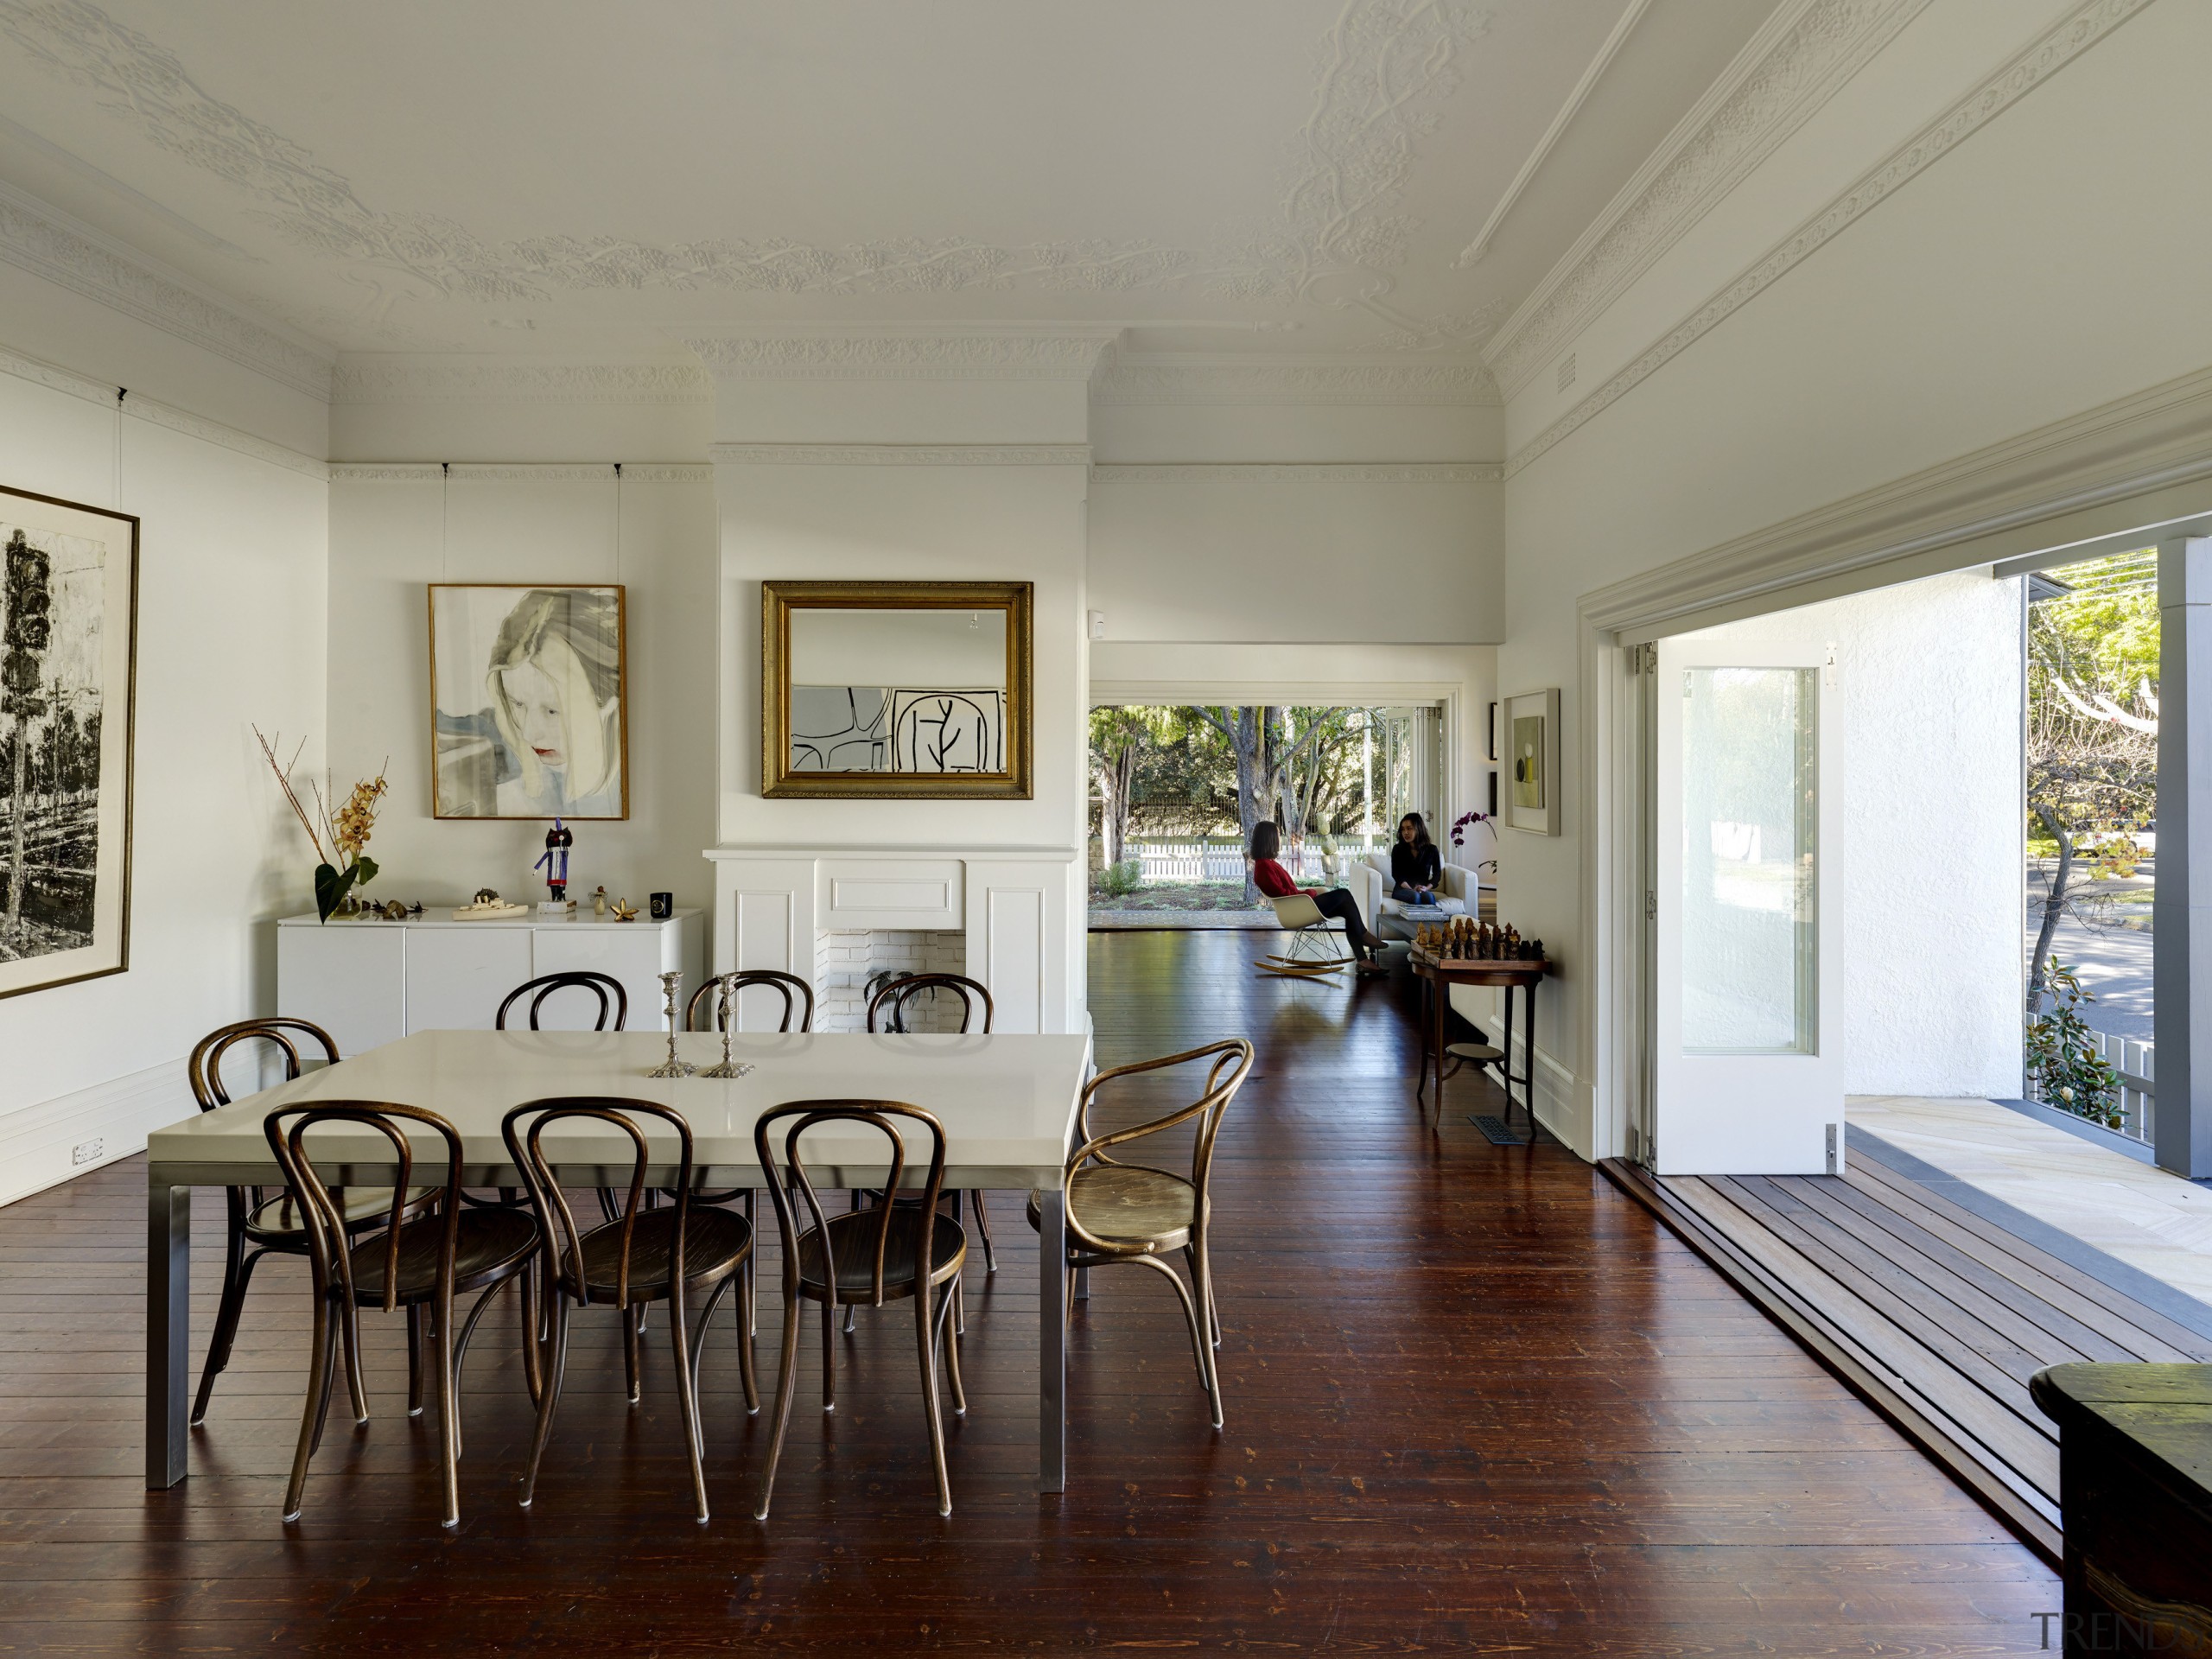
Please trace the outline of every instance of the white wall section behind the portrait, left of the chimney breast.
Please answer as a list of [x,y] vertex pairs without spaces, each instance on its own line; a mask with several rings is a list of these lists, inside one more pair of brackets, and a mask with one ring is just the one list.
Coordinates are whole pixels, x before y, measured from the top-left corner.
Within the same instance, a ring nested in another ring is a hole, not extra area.
[[[491,440],[495,442],[495,438]],[[489,445],[487,445],[489,447]],[[389,759],[372,898],[478,887],[535,902],[538,821],[438,821],[429,801],[431,582],[626,588],[630,816],[573,825],[571,891],[708,902],[714,838],[714,484],[706,465],[338,465],[330,504],[330,754]]]

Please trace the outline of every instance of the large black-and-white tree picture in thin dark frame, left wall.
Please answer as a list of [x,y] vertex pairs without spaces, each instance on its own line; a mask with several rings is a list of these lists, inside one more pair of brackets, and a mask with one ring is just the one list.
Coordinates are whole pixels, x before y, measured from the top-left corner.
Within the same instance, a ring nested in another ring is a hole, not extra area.
[[137,533],[0,487],[0,998],[131,967]]

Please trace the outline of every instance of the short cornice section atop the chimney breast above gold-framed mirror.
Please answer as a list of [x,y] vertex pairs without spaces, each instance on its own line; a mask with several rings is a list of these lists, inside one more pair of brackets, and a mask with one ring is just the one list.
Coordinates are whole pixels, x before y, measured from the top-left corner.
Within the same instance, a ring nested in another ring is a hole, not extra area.
[[721,380],[1088,380],[1119,330],[776,330],[684,341]]

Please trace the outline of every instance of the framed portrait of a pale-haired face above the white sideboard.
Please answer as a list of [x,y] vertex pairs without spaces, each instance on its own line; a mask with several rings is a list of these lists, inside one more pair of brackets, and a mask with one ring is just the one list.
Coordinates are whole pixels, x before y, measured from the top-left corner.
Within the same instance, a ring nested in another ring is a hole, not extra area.
[[628,818],[619,586],[429,588],[431,814]]

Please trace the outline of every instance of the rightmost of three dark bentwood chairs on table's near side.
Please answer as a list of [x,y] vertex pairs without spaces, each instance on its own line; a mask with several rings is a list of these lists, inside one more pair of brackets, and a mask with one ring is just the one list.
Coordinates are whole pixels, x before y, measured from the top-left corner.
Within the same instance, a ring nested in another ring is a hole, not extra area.
[[[900,1121],[929,1130],[929,1179],[920,1203],[878,1203],[869,1210],[825,1214],[814,1181],[807,1177],[799,1141],[821,1126],[874,1128],[891,1141],[891,1179],[896,1192],[907,1172],[907,1141]],[[776,1168],[770,1128],[790,1126],[783,1135],[783,1168]],[[823,1411],[836,1411],[836,1310],[883,1307],[887,1301],[914,1301],[914,1336],[922,1360],[922,1409],[929,1413],[929,1453],[938,1471],[938,1513],[953,1513],[953,1489],[945,1473],[945,1420],[938,1407],[938,1349],[953,1391],[953,1413],[967,1416],[967,1394],[960,1387],[960,1340],[949,1336],[947,1312],[960,1298],[960,1267],[967,1265],[967,1234],[949,1214],[938,1212],[945,1190],[945,1126],[918,1106],[891,1099],[799,1099],[761,1113],[752,1126],[754,1155],[768,1177],[768,1199],[776,1208],[776,1232],[783,1241],[783,1371],[776,1376],[776,1427],[768,1440],[768,1467],[761,1471],[761,1504],[754,1511],[768,1520],[768,1498],[776,1486],[776,1458],[783,1453],[783,1431],[792,1420],[792,1394],[799,1391],[799,1314],[803,1303],[823,1310]],[[799,1214],[799,1203],[805,1214]]]

